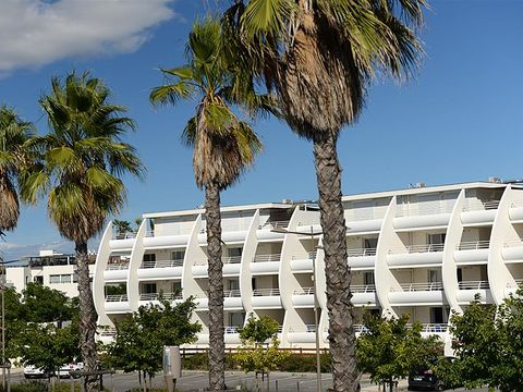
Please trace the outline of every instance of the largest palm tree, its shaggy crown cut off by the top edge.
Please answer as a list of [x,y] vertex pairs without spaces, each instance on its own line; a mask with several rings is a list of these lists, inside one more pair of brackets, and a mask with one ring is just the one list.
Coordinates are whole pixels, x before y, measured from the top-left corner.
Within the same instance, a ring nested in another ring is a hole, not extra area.
[[223,17],[229,39],[243,46],[238,58],[277,95],[290,127],[314,144],[335,391],[357,388],[337,140],[361,113],[374,75],[403,79],[416,69],[425,5],[425,0],[236,0]]

